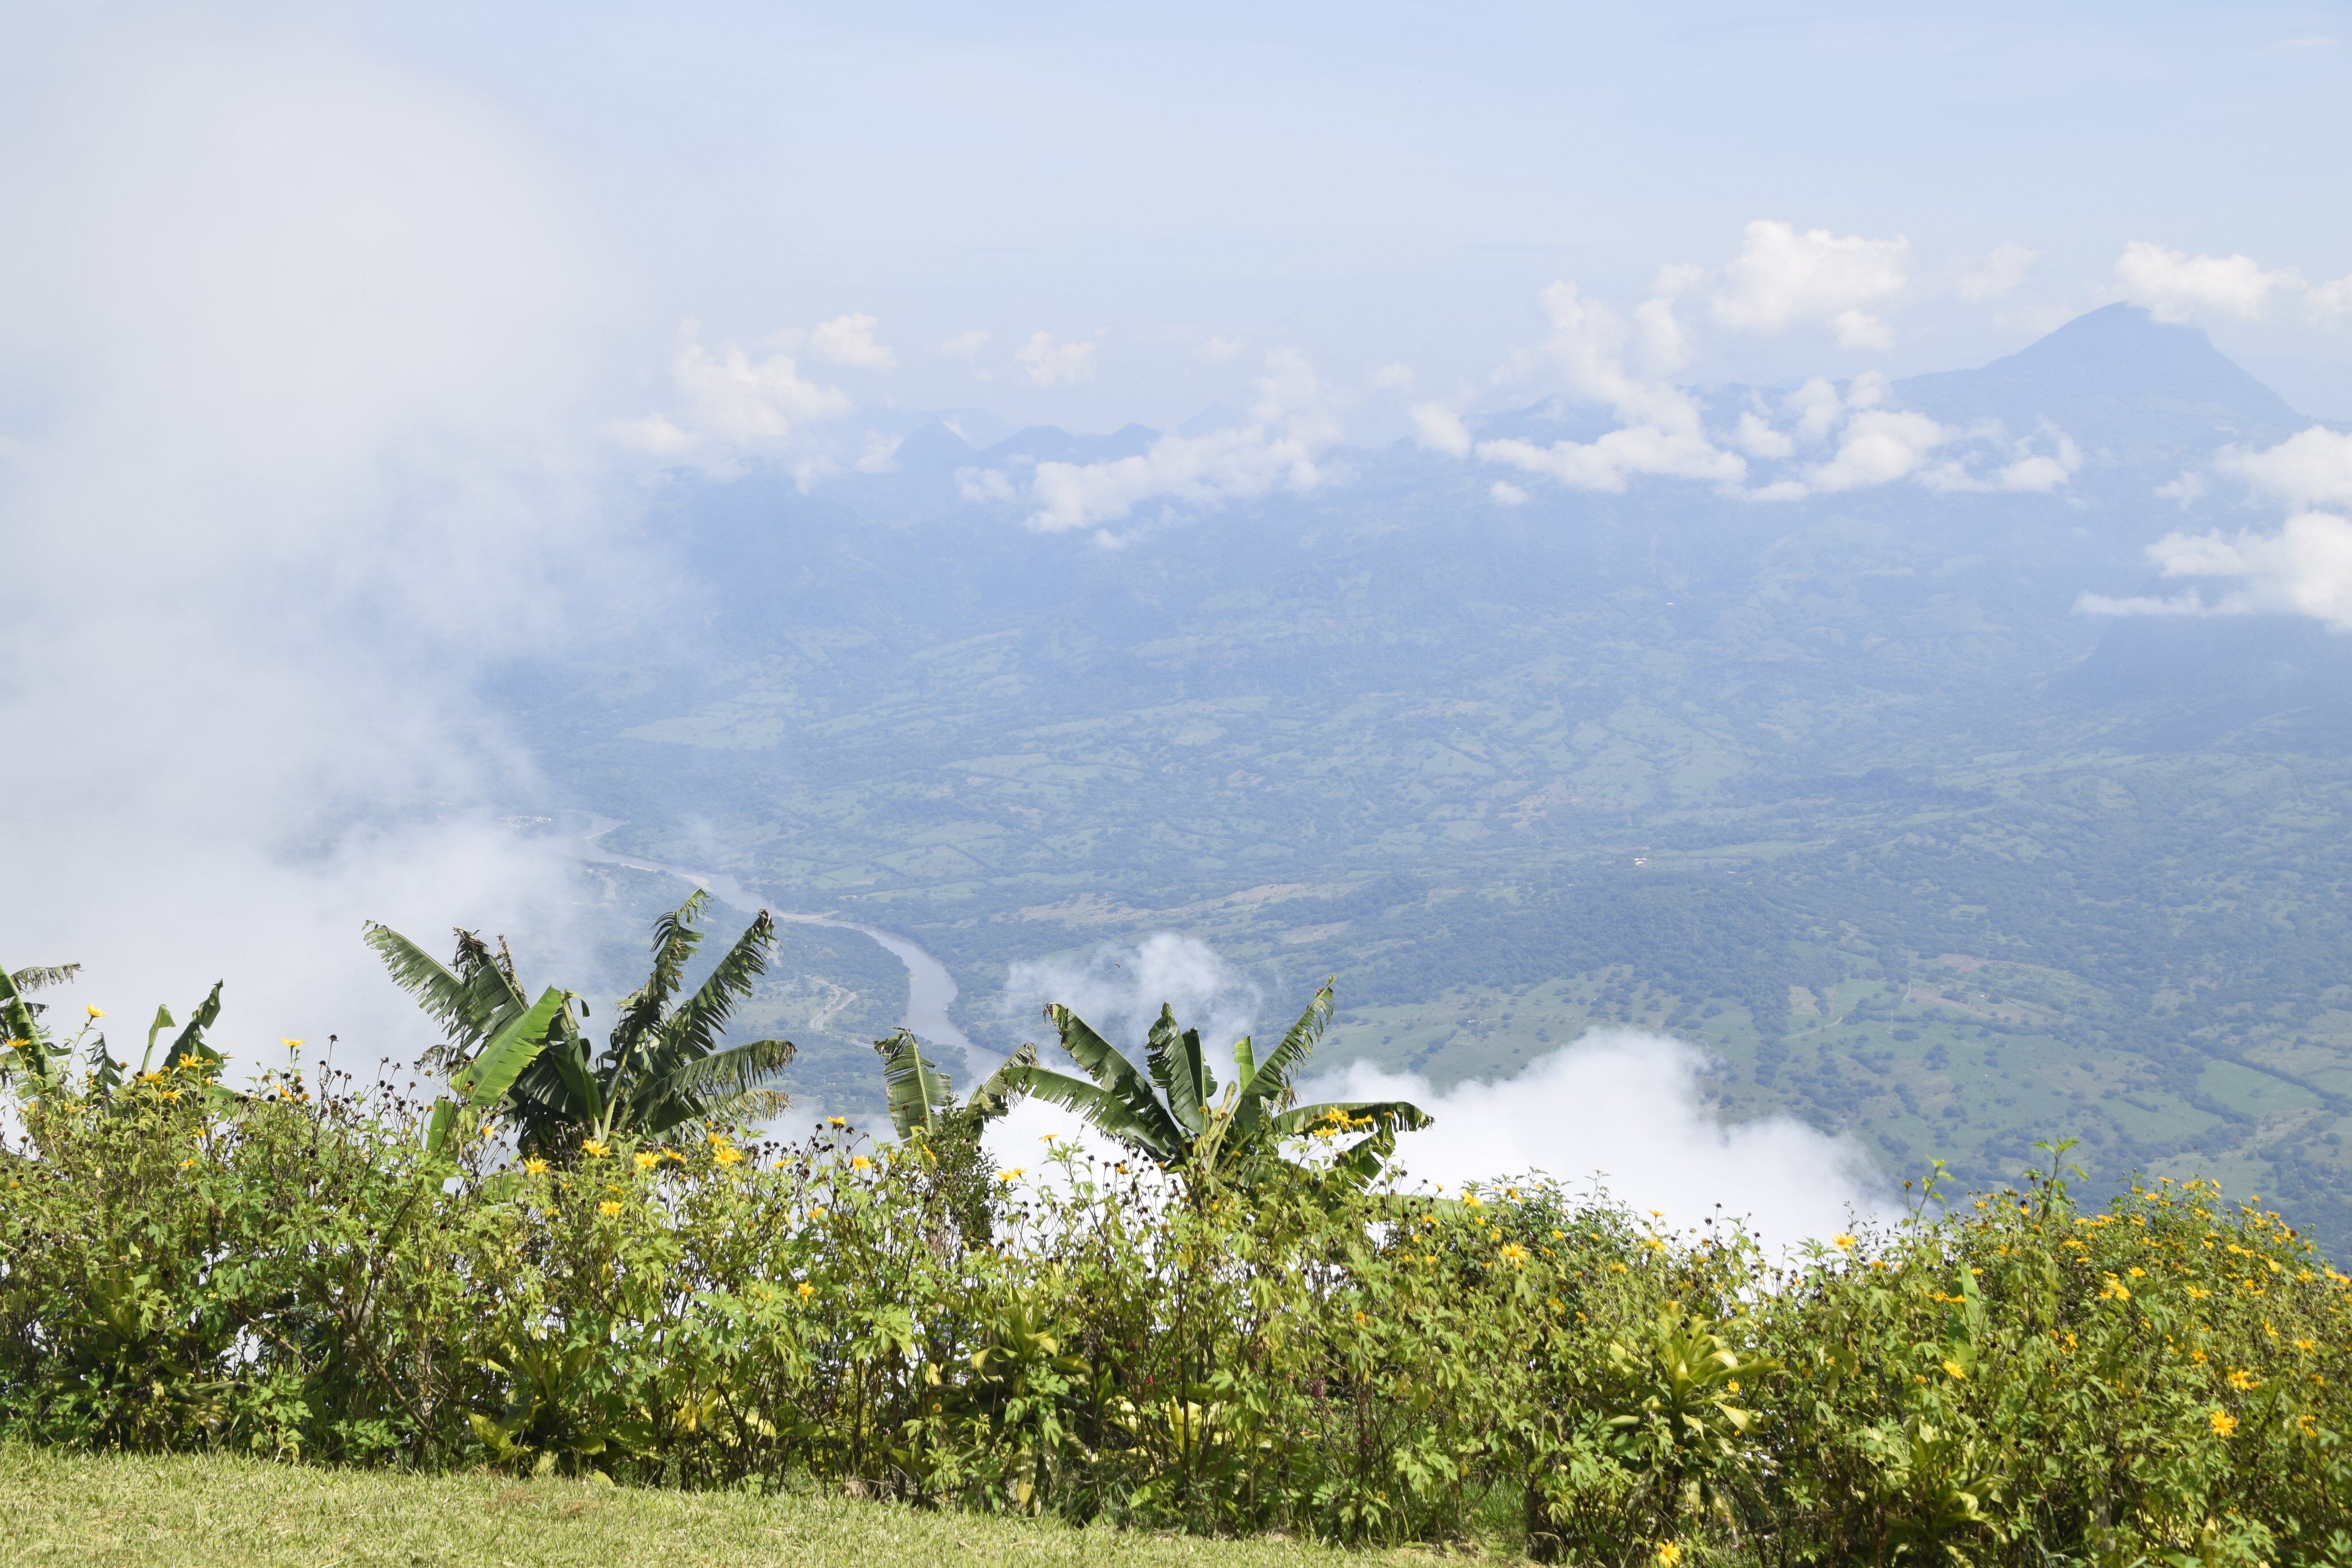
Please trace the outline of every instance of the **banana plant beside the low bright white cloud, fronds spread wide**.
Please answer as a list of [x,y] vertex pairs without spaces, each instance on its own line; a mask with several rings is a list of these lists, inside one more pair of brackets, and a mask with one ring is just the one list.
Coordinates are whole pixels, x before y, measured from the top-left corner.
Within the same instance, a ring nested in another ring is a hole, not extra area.
[[1345,1100],[1298,1105],[1294,1079],[1331,1023],[1331,980],[1324,980],[1282,1044],[1261,1063],[1251,1037],[1232,1046],[1235,1081],[1218,1098],[1200,1046],[1200,1030],[1176,1027],[1176,1013],[1160,1009],[1138,1070],[1084,1018],[1063,1004],[1044,1016],[1061,1034],[1063,1051],[1084,1079],[1049,1067],[1007,1065],[1009,1084],[1075,1110],[1101,1133],[1136,1150],[1164,1171],[1183,1171],[1195,1192],[1244,1178],[1263,1159],[1277,1157],[1284,1138],[1369,1133],[1338,1157],[1350,1180],[1371,1180],[1397,1150],[1397,1133],[1430,1124],[1428,1112],[1406,1100]]

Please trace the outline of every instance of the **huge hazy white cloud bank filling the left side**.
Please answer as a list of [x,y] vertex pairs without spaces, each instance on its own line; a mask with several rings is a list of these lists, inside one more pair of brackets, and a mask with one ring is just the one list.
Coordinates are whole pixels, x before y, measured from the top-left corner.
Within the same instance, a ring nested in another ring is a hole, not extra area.
[[560,933],[475,691],[630,597],[579,437],[619,289],[529,136],[235,35],[108,28],[9,103],[0,954],[87,964],[134,1060],[226,978],[238,1072],[367,1072],[433,1030],[362,917]]

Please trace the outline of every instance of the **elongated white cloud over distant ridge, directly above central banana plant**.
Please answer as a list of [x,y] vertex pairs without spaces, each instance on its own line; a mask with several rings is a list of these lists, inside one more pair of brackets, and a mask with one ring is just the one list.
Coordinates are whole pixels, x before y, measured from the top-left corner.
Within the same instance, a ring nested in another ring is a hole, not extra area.
[[[1324,473],[1317,454],[1338,442],[1343,425],[1305,355],[1277,348],[1265,355],[1249,423],[1204,435],[1162,435],[1145,451],[1110,463],[1037,463],[1028,482],[1028,524],[1047,534],[1096,527],[1134,515],[1152,498],[1221,505],[1272,489],[1315,489]],[[1011,487],[1009,480],[1004,480]],[[964,494],[974,494],[967,484]]]

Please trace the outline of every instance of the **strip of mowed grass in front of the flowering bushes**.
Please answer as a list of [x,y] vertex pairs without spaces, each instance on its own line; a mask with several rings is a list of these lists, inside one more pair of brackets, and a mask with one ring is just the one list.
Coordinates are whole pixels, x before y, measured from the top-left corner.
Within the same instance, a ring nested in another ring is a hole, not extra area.
[[360,1563],[1098,1563],[1369,1568],[1428,1552],[1195,1540],[943,1514],[833,1495],[621,1490],[496,1474],[400,1476],[221,1455],[122,1458],[0,1446],[0,1561],[172,1568]]

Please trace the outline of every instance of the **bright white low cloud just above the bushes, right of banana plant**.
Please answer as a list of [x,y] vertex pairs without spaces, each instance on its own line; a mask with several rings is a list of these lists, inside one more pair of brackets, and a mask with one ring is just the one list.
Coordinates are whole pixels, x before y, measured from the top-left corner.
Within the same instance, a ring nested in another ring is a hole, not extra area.
[[1889,1218],[1891,1192],[1851,1138],[1790,1117],[1724,1124],[1708,1107],[1705,1067],[1677,1039],[1597,1030],[1510,1079],[1432,1088],[1357,1065],[1301,1095],[1421,1105],[1435,1124],[1397,1140],[1397,1164],[1449,1190],[1541,1171],[1663,1211],[1675,1227],[1748,1220],[1773,1248]]

